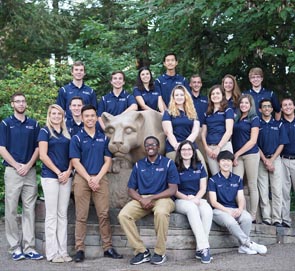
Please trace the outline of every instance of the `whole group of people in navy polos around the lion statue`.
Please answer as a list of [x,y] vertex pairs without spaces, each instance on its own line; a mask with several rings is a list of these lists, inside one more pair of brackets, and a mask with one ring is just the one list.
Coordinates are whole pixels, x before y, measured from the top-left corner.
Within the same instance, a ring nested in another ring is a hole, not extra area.
[[[74,261],[85,259],[91,198],[99,218],[104,256],[123,258],[112,245],[106,176],[112,154],[104,134],[103,112],[119,115],[156,110],[163,115],[166,157],[158,153],[156,137],[144,139],[146,157],[134,165],[128,182],[132,200],[118,216],[134,249],[130,264],[166,262],[165,242],[174,210],[188,217],[196,240],[195,257],[202,263],[212,260],[212,221],[228,228],[239,241],[238,252],[249,255],[267,252],[265,246],[250,240],[253,223],[291,227],[294,101],[285,98],[280,105],[276,94],[262,87],[260,68],[249,72],[250,90],[241,94],[235,77],[227,74],[206,97],[201,95],[201,77],[195,74],[188,82],[176,73],[177,64],[174,53],[166,54],[166,72],[155,81],[149,68],[139,69],[133,94],[123,88],[124,72],[115,71],[110,80],[112,90],[98,102],[93,89],[84,84],[84,64],[77,61],[72,66],[73,81],[59,90],[42,129],[25,115],[25,95],[15,93],[11,97],[14,114],[1,122],[0,155],[6,166],[6,237],[13,260],[43,258],[35,250],[34,236],[38,157],[46,206],[46,259],[53,263],[73,260],[67,251],[67,207],[72,190],[76,206]],[[249,192],[247,210],[243,179]],[[22,235],[15,220],[20,197]],[[151,212],[157,235],[153,255],[135,224]]]

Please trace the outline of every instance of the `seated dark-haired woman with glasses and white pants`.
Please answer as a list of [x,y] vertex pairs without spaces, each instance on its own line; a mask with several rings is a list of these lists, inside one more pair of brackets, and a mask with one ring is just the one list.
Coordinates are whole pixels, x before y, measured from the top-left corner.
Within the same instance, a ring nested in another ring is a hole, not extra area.
[[206,193],[207,173],[193,143],[180,143],[175,163],[180,184],[176,192],[175,211],[187,216],[194,233],[197,249],[196,258],[202,263],[210,263],[209,232],[212,224],[212,208],[202,197]]

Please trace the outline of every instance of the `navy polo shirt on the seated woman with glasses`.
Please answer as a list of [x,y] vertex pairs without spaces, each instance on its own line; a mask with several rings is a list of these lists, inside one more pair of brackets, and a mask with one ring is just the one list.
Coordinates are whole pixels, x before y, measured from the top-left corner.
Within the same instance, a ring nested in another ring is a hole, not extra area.
[[206,170],[202,163],[197,164],[197,168],[189,167],[179,172],[180,184],[178,191],[184,195],[196,195],[200,190],[200,181],[207,177]]

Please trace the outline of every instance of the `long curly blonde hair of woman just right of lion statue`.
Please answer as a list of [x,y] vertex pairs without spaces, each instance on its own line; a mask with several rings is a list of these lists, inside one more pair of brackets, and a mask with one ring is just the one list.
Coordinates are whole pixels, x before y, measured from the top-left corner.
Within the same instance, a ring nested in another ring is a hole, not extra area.
[[171,116],[173,117],[178,117],[180,116],[180,112],[178,107],[176,106],[175,99],[174,99],[174,93],[177,89],[180,89],[184,93],[184,105],[183,109],[185,114],[189,119],[195,120],[198,119],[197,112],[193,103],[193,99],[186,89],[185,86],[183,85],[177,85],[172,89],[171,96],[170,96],[170,102],[169,102],[169,107],[168,107],[168,112]]

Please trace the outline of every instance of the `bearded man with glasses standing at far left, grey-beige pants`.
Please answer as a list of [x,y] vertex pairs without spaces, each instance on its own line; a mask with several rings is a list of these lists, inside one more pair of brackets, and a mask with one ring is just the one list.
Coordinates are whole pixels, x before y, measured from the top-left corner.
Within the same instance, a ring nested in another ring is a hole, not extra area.
[[[12,116],[0,124],[0,155],[5,166],[5,231],[9,251],[15,261],[25,258],[40,260],[35,251],[35,203],[37,180],[35,163],[39,148],[39,124],[25,115],[26,97],[15,93],[11,97]],[[17,208],[22,200],[22,234],[19,234]]]

